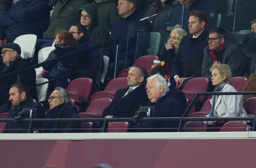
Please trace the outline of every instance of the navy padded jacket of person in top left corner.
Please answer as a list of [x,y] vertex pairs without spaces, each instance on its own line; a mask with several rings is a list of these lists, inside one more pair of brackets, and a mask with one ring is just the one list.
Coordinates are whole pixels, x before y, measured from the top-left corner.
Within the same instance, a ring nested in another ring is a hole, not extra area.
[[36,34],[42,38],[50,22],[50,10],[45,0],[20,0],[0,17],[8,42],[23,34]]

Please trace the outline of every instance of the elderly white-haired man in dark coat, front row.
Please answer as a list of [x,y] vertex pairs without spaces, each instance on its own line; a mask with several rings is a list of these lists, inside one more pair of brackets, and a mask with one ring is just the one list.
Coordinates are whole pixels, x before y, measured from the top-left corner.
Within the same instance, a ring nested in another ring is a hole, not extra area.
[[[169,88],[163,76],[155,74],[147,79],[148,106],[155,107],[154,117],[180,117],[179,103],[169,95]],[[143,131],[176,131],[179,121],[144,122],[140,124]],[[159,128],[159,129],[146,129]]]

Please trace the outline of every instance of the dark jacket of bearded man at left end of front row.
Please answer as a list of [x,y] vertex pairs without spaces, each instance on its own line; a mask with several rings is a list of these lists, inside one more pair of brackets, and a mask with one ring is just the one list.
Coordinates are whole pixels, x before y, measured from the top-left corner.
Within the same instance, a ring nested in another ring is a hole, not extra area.
[[[35,113],[32,114],[33,118],[45,118],[44,108],[40,104],[34,103],[31,97],[28,97],[26,100],[21,101],[18,107],[10,109],[8,112],[7,118],[14,118],[18,112],[22,111],[23,108],[36,108],[36,117]],[[41,130],[43,127],[43,122],[32,122],[30,133],[33,133],[35,130]],[[7,122],[4,127],[3,133],[28,133],[29,122]]]

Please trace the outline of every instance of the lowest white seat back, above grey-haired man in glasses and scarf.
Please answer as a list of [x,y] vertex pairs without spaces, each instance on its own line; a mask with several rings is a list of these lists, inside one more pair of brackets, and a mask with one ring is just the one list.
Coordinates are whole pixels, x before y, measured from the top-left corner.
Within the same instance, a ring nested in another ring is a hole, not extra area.
[[[49,80],[46,79],[46,78],[36,78],[36,85],[39,85],[39,84],[47,82],[47,81],[49,81]],[[45,100],[48,86],[49,86],[49,83],[46,83],[44,85],[36,87],[36,93],[37,93],[37,100],[38,100],[38,102]]]

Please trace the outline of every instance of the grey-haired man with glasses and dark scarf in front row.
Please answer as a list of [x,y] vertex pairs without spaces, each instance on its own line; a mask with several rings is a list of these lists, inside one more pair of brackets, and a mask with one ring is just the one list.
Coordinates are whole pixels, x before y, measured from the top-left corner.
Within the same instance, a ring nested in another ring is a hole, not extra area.
[[[80,118],[77,108],[71,105],[69,93],[66,89],[57,87],[48,98],[50,110],[46,119],[56,118]],[[80,122],[44,122],[43,130],[34,133],[69,133],[79,132]]]

